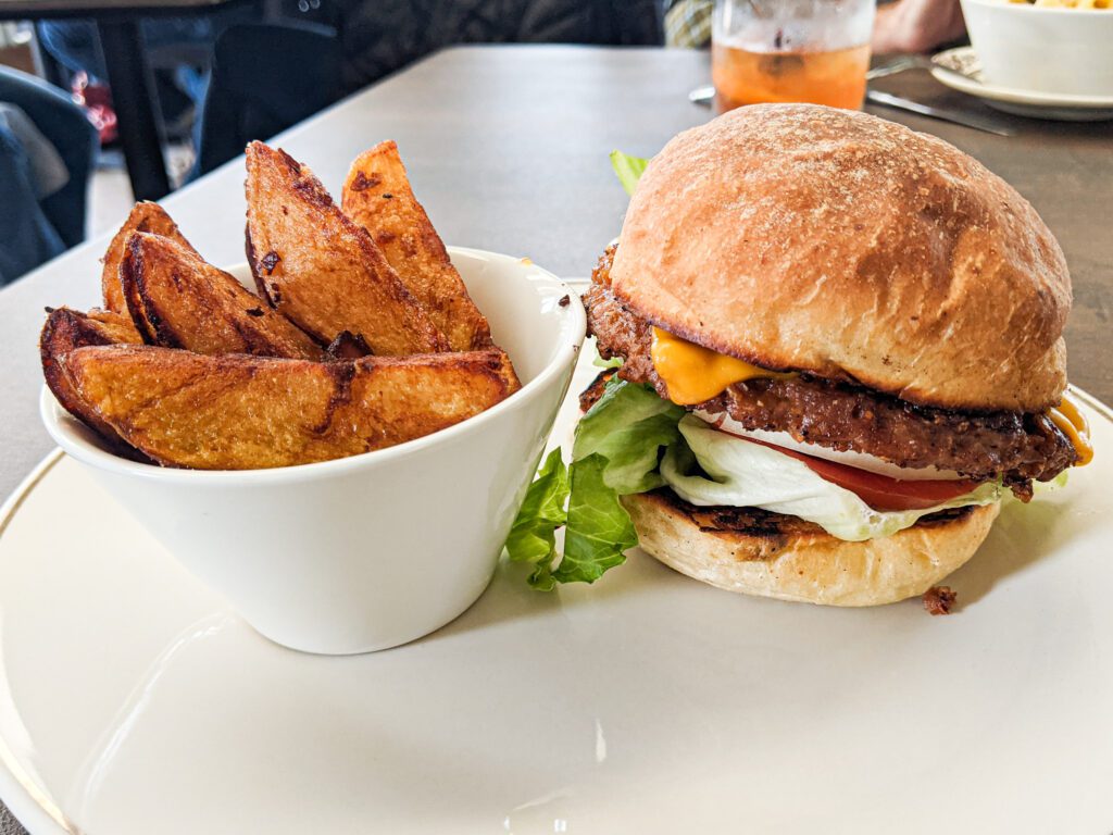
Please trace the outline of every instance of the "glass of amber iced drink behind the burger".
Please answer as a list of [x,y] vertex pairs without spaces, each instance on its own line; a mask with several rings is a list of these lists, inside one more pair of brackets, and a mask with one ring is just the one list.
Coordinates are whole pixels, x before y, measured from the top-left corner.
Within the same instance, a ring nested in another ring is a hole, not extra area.
[[860,108],[876,6],[876,0],[716,0],[716,108],[723,112],[762,101]]

